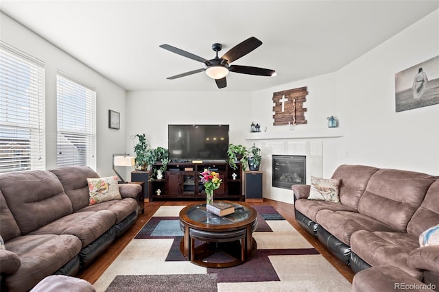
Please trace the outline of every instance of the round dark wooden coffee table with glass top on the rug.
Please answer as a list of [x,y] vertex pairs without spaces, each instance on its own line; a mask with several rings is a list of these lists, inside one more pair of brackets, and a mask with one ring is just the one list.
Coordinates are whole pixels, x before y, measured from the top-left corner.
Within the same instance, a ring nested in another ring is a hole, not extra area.
[[[193,204],[180,211],[180,228],[185,232],[180,243],[183,256],[202,267],[233,267],[250,260],[257,250],[252,232],[257,228],[257,212],[246,203],[224,201],[235,206],[233,214],[219,217],[206,210],[206,204]],[[195,239],[203,241],[195,247]],[[216,263],[207,259],[224,252],[233,260]]]

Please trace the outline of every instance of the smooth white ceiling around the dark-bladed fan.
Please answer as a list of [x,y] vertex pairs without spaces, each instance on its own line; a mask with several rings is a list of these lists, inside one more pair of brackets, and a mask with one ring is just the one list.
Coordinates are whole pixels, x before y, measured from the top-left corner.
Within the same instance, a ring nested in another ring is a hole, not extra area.
[[[126,90],[254,91],[342,68],[439,8],[430,1],[11,1],[0,10]],[[263,42],[233,62],[276,77],[230,73],[218,89],[204,64],[158,47],[212,59],[242,40]],[[416,40],[414,40],[416,41]]]

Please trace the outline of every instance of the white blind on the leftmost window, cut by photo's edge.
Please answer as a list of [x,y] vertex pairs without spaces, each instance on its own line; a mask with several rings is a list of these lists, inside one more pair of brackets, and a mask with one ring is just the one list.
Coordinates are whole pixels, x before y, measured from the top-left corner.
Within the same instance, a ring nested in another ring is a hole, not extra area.
[[45,64],[0,41],[0,172],[45,169]]

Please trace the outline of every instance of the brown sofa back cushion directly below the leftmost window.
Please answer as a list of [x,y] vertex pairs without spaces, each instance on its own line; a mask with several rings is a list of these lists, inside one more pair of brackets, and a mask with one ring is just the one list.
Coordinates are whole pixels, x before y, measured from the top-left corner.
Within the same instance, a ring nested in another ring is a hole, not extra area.
[[61,182],[50,171],[1,173],[0,191],[21,235],[72,212],[70,199],[64,193]]

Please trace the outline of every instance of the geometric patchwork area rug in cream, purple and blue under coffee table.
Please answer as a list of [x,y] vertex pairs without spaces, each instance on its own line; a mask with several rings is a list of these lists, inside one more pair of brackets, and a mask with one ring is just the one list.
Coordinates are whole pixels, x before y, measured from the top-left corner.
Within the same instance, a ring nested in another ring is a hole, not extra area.
[[348,280],[272,206],[254,206],[258,249],[247,263],[193,265],[179,248],[182,208],[161,206],[94,283],[97,291],[351,291]]

